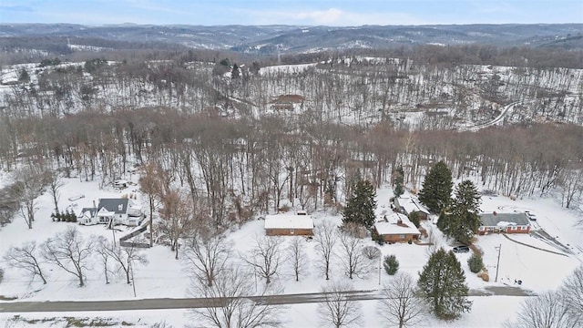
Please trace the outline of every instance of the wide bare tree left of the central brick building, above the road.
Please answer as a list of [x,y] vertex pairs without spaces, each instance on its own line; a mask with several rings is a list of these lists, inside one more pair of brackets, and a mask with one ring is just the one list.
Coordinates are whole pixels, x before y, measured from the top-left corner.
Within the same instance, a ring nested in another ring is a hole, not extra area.
[[199,233],[189,242],[184,254],[191,264],[194,276],[212,287],[216,276],[230,257],[230,250],[231,244],[223,235],[205,236]]

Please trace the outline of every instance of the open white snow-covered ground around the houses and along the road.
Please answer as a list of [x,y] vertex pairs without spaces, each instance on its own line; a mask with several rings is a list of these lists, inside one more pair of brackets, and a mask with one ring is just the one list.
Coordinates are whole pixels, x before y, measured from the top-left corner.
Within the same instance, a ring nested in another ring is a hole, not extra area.
[[[125,177],[137,182],[138,176]],[[83,207],[92,206],[93,200],[97,202],[99,198],[118,197],[124,193],[137,191],[136,185],[130,185],[126,190],[114,190],[106,188],[98,189],[97,182],[79,181],[79,179],[66,179],[66,186],[61,190],[59,207],[65,209],[70,206],[76,212]],[[69,198],[84,195],[79,200],[69,201]],[[377,214],[382,216],[391,210],[389,199],[392,191],[388,188],[377,190]],[[138,198],[138,200],[140,200]],[[145,199],[143,199],[145,200]],[[77,223],[53,222],[50,219],[52,200],[48,192],[45,192],[38,201],[39,210],[36,212],[34,229],[28,230],[25,221],[17,217],[15,220],[2,228],[0,231],[0,253],[4,254],[12,246],[18,246],[25,241],[36,241],[40,244],[52,237],[58,231],[64,231],[67,226],[77,226],[87,238],[90,235],[103,235],[113,238],[112,231],[107,230],[102,225],[78,226]],[[503,235],[479,236],[476,247],[484,252],[484,262],[490,272],[490,282],[483,282],[476,277],[476,274],[469,271],[467,259],[469,253],[456,254],[465,269],[466,282],[471,290],[484,290],[488,286],[517,286],[514,281],[521,280],[520,286],[528,292],[544,292],[556,289],[563,279],[570,274],[583,261],[583,239],[580,238],[582,232],[576,229],[575,223],[580,220],[580,212],[566,210],[560,207],[555,200],[534,199],[534,200],[510,200],[502,196],[483,196],[481,209],[487,211],[511,212],[530,210],[537,215],[537,222],[533,229],[544,229],[558,242],[566,246],[566,249],[559,249],[553,244],[531,237],[529,235],[511,235],[514,241],[506,239]],[[312,213],[315,224],[320,224],[322,220],[332,220],[340,223],[339,215],[331,215],[325,212]],[[423,222],[424,228],[435,231],[436,243],[451,249],[452,243],[437,231],[432,220]],[[124,233],[116,232],[116,238]],[[230,240],[234,245],[234,256],[244,254],[251,249],[256,236],[263,235],[263,221],[253,220],[246,223],[239,230],[230,234]],[[281,247],[290,238],[282,238]],[[517,243],[519,241],[521,243]],[[376,245],[373,241],[366,241],[367,244]],[[529,247],[533,246],[533,247]],[[498,256],[497,247],[500,247],[500,263],[498,268],[498,281],[495,280],[496,261]],[[320,272],[313,266],[317,261],[314,251],[314,242],[306,243],[306,250],[310,258],[310,270],[301,276],[300,282],[294,282],[285,267],[281,270],[278,283],[285,293],[297,292],[320,292],[325,283]],[[394,254],[400,262],[400,272],[409,272],[414,276],[422,269],[428,259],[427,246],[394,244],[382,246],[384,255]],[[553,252],[549,252],[553,251]],[[47,281],[43,285],[36,279],[31,282],[30,278],[22,271],[14,268],[7,268],[4,263],[0,264],[5,268],[5,278],[0,283],[0,295],[5,297],[16,297],[18,301],[75,301],[75,300],[132,300],[148,298],[183,298],[188,297],[189,278],[182,261],[176,261],[173,252],[166,246],[155,246],[144,251],[148,257],[148,264],[136,268],[134,297],[133,286],[125,283],[122,276],[115,277],[109,284],[105,283],[101,272],[100,264],[95,261],[92,269],[87,271],[87,286],[77,287],[77,280],[72,275],[66,274],[59,269],[45,267]],[[559,253],[559,254],[557,254]],[[343,271],[339,267],[339,261],[334,261],[332,269],[332,279],[343,278]],[[381,285],[391,278],[386,273],[381,272]],[[261,283],[261,282],[260,282]],[[355,290],[378,290],[379,270],[378,264],[371,263],[370,272],[363,278],[353,280]],[[430,317],[427,321],[429,327],[499,327],[508,319],[513,319],[517,313],[520,302],[525,297],[518,296],[476,296],[471,313],[465,313],[453,323],[445,323]],[[0,301],[0,308],[2,308]],[[9,302],[9,301],[5,301]],[[383,326],[380,316],[376,313],[375,301],[360,302],[363,308],[363,327]],[[496,315],[493,315],[496,313]],[[19,317],[15,318],[15,315]],[[123,311],[117,313],[2,313],[0,314],[0,326],[3,327],[66,327],[66,317],[75,318],[105,318],[114,326],[122,326],[124,323],[131,323],[137,327],[148,327],[154,323],[167,323],[167,326],[183,327],[192,323],[192,317],[187,310],[157,310],[157,311]],[[105,320],[104,319],[104,320]],[[317,306],[315,304],[295,304],[285,307],[282,311],[282,319],[285,327],[313,327],[321,325],[318,322]]]

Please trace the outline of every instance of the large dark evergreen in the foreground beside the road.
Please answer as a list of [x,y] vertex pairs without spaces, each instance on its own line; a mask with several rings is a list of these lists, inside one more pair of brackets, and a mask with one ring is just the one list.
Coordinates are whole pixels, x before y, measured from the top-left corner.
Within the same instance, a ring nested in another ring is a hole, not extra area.
[[417,284],[430,311],[439,319],[455,320],[472,307],[467,300],[464,270],[453,251],[435,251],[419,273]]

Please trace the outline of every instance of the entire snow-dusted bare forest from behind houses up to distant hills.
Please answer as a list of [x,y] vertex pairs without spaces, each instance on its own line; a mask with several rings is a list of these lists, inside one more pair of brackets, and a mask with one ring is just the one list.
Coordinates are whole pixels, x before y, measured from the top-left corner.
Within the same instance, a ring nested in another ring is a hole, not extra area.
[[[49,56],[2,67],[0,169],[102,186],[149,169],[216,226],[282,204],[341,210],[355,177],[379,187],[397,168],[415,192],[439,160],[483,189],[556,193],[572,207],[583,192],[579,67],[578,52],[493,46]],[[503,124],[460,129],[514,103]],[[19,193],[2,192],[8,220]]]

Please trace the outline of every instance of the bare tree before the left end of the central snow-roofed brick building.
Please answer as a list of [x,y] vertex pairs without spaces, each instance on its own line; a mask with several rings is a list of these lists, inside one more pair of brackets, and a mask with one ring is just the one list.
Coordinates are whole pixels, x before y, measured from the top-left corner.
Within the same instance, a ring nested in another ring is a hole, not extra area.
[[281,238],[256,236],[255,247],[243,260],[254,268],[254,271],[261,278],[265,278],[265,283],[271,282],[271,277],[277,274],[281,263]]

